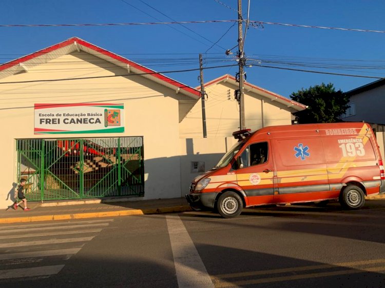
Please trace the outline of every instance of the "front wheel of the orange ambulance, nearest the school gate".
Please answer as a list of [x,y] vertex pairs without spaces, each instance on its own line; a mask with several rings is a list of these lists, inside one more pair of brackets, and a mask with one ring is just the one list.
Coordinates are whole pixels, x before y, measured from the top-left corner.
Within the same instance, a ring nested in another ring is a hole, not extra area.
[[217,209],[223,218],[234,218],[241,214],[243,202],[237,193],[227,191],[219,196]]

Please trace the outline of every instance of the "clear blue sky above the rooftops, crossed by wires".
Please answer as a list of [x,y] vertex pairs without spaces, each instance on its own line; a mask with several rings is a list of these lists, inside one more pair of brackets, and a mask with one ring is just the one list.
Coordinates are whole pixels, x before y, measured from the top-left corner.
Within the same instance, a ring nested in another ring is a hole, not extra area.
[[[237,10],[237,0],[220,2]],[[244,0],[245,18],[247,4],[248,1]],[[170,18],[176,21],[237,19],[237,13],[225,5],[215,0],[2,0],[0,25],[172,22]],[[385,31],[384,12],[383,0],[251,0],[249,19]],[[160,72],[199,68],[199,53],[203,54],[205,67],[236,64],[234,55],[226,56],[224,52],[238,44],[237,25],[208,23],[184,26],[194,32],[175,24],[0,27],[0,63],[76,36]],[[218,45],[213,46],[229,28]],[[247,65],[260,63],[281,68],[385,77],[384,47],[385,33],[264,24],[263,27],[249,27],[244,51]],[[234,54],[237,49],[233,50]],[[326,68],[322,68],[325,65]],[[207,69],[204,80],[225,73],[235,75],[237,71],[237,67]],[[322,82],[331,82],[337,89],[349,91],[376,80],[261,67],[249,67],[246,72],[249,83],[286,97],[293,91]],[[166,75],[191,87],[199,86],[199,71]]]

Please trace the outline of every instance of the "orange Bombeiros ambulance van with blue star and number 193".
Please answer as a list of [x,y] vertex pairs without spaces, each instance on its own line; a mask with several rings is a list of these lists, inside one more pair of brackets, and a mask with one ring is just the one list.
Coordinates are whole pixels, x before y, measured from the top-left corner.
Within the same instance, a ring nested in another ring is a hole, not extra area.
[[385,192],[383,163],[368,124],[271,126],[233,136],[239,141],[217,166],[192,181],[186,199],[193,209],[232,218],[244,207],[331,199],[358,209],[365,195]]

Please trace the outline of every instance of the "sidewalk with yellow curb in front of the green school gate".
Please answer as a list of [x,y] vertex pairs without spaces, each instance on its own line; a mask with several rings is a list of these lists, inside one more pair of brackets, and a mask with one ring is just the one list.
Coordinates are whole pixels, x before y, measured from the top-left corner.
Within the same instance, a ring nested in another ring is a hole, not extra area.
[[[125,200],[125,201],[124,201]],[[0,224],[67,220],[99,217],[116,217],[190,211],[185,198],[131,201],[128,199],[100,199],[29,202],[28,208],[17,210],[11,205],[0,211]]]

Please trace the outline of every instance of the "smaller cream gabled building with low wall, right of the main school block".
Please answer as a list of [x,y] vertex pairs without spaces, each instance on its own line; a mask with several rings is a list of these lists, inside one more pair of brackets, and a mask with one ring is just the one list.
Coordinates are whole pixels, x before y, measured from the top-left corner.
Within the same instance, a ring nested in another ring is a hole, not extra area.
[[[180,123],[181,183],[186,191],[191,179],[218,163],[236,140],[239,130],[239,104],[235,90],[239,83],[231,75],[223,75],[204,84],[207,138],[203,138],[202,105],[196,102]],[[200,90],[200,87],[197,88]],[[266,126],[291,125],[292,113],[306,109],[291,99],[245,82],[245,126],[256,131]]]

